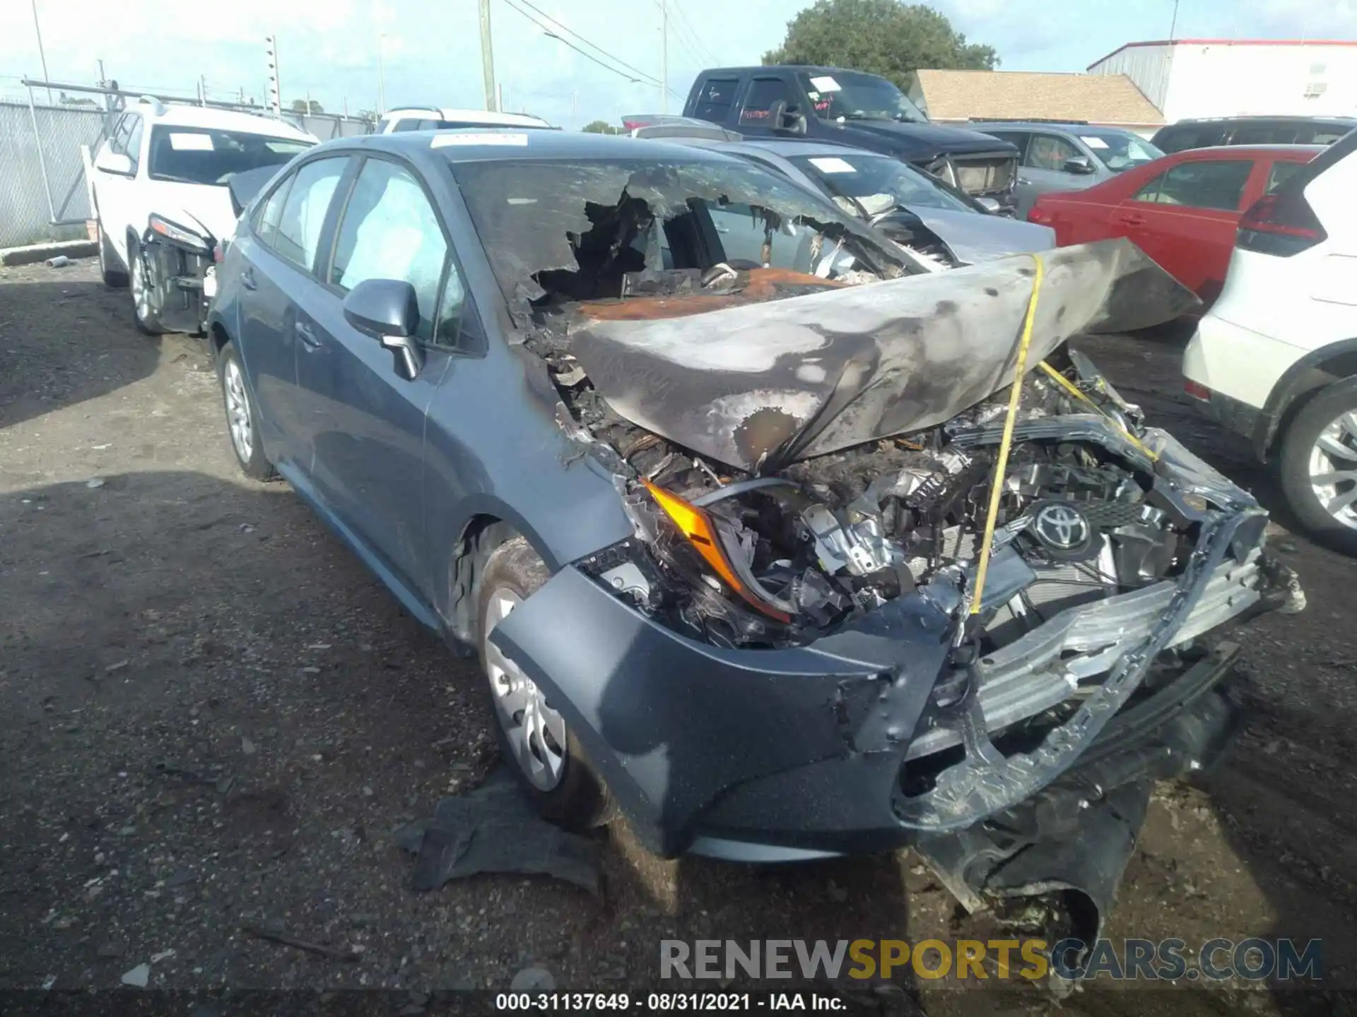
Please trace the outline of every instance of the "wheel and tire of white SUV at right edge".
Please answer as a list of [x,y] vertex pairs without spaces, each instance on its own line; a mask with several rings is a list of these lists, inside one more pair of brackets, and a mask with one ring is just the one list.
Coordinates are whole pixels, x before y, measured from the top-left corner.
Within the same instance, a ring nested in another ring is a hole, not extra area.
[[1357,377],[1296,414],[1282,439],[1281,487],[1319,542],[1357,555]]

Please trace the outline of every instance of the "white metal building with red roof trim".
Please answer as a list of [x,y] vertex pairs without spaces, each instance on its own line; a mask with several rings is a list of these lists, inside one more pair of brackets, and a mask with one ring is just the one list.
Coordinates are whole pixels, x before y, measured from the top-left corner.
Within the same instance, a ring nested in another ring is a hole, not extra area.
[[1164,114],[1357,117],[1357,41],[1128,42],[1088,66],[1126,75]]

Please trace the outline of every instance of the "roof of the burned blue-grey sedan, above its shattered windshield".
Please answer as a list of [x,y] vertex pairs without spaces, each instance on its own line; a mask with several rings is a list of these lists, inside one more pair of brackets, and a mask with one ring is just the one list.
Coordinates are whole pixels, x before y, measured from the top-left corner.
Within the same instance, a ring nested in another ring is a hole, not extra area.
[[410,130],[395,134],[362,134],[337,138],[326,148],[377,148],[392,152],[429,151],[449,163],[498,160],[681,160],[727,161],[730,156],[692,145],[632,138],[626,134],[590,134],[582,130],[513,130],[510,127],[459,127],[456,130]]

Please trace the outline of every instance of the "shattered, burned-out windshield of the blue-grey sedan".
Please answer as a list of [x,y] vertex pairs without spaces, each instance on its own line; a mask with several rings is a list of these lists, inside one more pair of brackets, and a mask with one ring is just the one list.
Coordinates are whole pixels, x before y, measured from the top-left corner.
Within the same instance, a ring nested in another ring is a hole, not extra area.
[[455,163],[510,302],[605,300],[669,270],[775,267],[894,275],[900,256],[851,216],[737,161]]

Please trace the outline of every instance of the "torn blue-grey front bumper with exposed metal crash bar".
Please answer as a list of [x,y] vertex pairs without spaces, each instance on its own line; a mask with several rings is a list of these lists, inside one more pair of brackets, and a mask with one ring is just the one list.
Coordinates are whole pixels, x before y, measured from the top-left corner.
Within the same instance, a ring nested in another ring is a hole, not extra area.
[[[1120,711],[1164,651],[1293,595],[1293,575],[1259,551],[1266,514],[1155,437],[1162,469],[1209,479],[1240,507],[1206,513],[1177,580],[1069,607],[965,674],[949,664],[954,622],[930,586],[809,645],[726,650],[661,626],[567,567],[491,640],[566,716],[651,850],[772,860],[965,835],[1063,776],[1079,780],[1106,739],[1144,757],[1163,731],[1148,730],[1141,744]],[[1095,671],[1106,673],[1101,683],[1080,682]],[[1186,666],[1155,694],[1182,682],[1201,682],[1200,669]],[[1053,700],[1080,705],[1035,747],[995,747],[992,735]],[[909,791],[919,759],[936,774]],[[1095,781],[1087,793],[1111,786]]]

